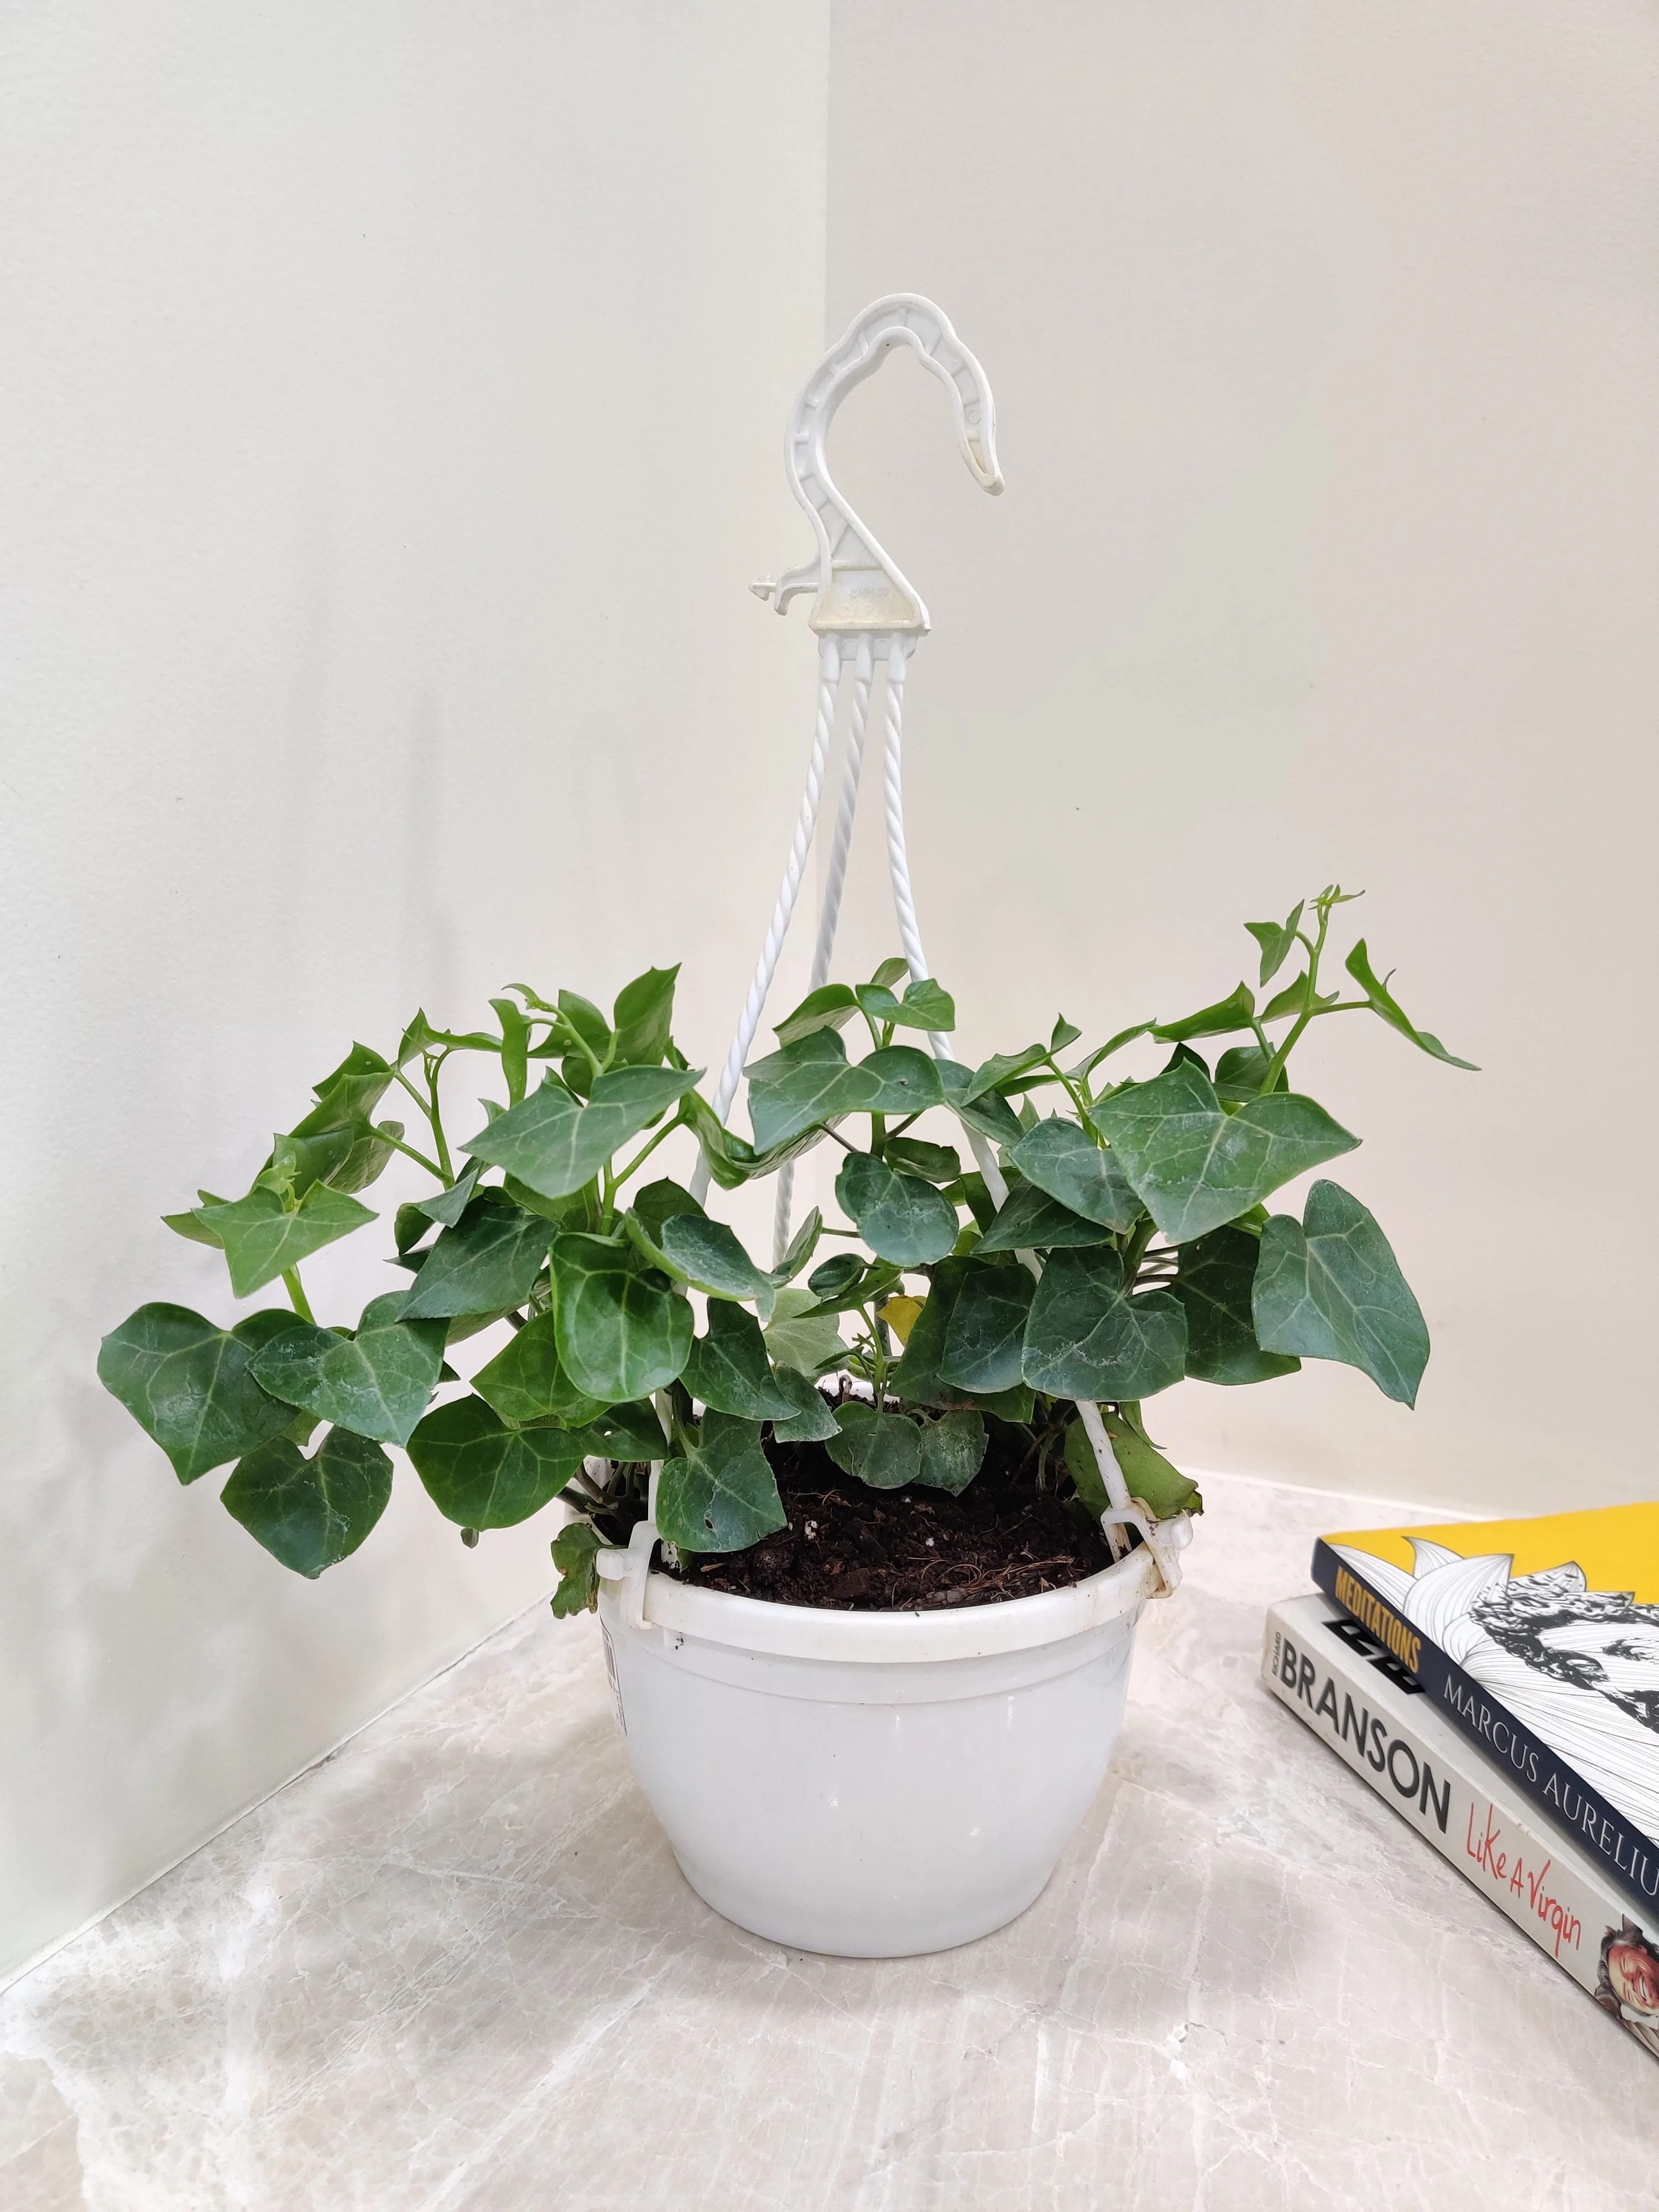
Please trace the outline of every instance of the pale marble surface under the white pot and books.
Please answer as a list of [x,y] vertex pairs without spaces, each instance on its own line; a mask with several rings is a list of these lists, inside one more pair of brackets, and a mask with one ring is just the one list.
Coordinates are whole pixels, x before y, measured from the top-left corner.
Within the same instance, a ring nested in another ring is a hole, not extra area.
[[1212,1480],[1037,1905],[714,1918],[538,1608],[0,1997],[7,2212],[1652,2203],[1659,2070],[1256,1681],[1323,1526]]

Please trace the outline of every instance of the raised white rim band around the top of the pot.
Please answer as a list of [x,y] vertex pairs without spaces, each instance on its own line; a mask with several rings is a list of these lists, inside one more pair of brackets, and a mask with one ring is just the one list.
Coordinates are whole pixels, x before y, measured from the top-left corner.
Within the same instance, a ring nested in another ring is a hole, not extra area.
[[[1146,1544],[1115,1566],[1104,1566],[1097,1575],[1062,1590],[927,1613],[830,1613],[821,1606],[781,1606],[768,1597],[697,1590],[653,1571],[644,1588],[644,1628],[779,1659],[841,1659],[852,1666],[984,1659],[993,1652],[1064,1644],[1126,1617],[1133,1626],[1133,1617],[1159,1586],[1159,1566]],[[599,1601],[622,1621],[615,1588],[606,1582]]]

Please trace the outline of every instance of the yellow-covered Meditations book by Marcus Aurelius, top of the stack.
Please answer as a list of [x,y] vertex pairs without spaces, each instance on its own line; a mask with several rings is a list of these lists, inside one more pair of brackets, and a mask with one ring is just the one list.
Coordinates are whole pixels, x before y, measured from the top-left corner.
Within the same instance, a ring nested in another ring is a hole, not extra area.
[[1354,1528],[1314,1582],[1655,1916],[1659,1504]]

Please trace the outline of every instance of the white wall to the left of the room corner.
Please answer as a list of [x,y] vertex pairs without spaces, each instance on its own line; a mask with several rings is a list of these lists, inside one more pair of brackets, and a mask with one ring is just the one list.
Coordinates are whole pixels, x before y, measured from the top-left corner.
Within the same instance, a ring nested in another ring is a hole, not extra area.
[[743,586],[825,73],[827,0],[4,11],[0,1971],[551,1586],[407,1467],[303,1584],[93,1358],[234,1312],[157,1214],[418,1000],[684,958],[723,1051],[812,712]]

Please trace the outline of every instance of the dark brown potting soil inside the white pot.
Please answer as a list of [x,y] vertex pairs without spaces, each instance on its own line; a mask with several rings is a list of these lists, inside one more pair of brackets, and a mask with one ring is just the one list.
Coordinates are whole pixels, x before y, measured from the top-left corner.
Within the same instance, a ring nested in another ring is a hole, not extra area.
[[779,1606],[927,1613],[1035,1597],[1113,1564],[1095,1517],[1037,1489],[995,1433],[960,1498],[920,1484],[872,1491],[821,1444],[772,1442],[768,1455],[787,1526],[748,1551],[688,1555],[670,1568],[681,1582]]

